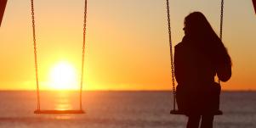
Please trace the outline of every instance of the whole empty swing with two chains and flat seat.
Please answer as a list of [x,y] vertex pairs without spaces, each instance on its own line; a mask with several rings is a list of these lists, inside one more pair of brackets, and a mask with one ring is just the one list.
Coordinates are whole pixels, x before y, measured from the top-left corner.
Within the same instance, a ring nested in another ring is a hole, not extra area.
[[83,65],[84,65],[84,53],[85,53],[85,35],[86,35],[86,17],[87,17],[87,0],[84,5],[84,16],[83,16],[83,40],[82,40],[82,71],[81,71],[81,82],[80,82],[80,104],[79,109],[67,109],[67,110],[44,110],[40,108],[40,91],[38,82],[38,68],[37,68],[37,43],[36,43],[36,27],[35,27],[35,16],[34,16],[34,1],[31,0],[31,18],[33,28],[33,44],[34,44],[34,58],[35,58],[35,70],[36,70],[36,81],[37,81],[37,109],[34,114],[84,114],[82,110],[82,77],[83,77]]

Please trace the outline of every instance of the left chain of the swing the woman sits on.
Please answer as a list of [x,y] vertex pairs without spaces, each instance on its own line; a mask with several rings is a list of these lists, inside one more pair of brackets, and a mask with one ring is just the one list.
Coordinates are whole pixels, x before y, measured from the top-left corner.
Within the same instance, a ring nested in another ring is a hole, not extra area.
[[171,72],[172,72],[172,83],[173,83],[173,93],[174,93],[174,110],[175,110],[175,103],[176,103],[176,88],[175,88],[175,81],[174,81],[174,56],[173,56],[173,44],[172,44],[172,36],[171,36],[171,23],[170,23],[170,8],[169,8],[169,1],[166,0],[167,4],[167,14],[168,14],[168,36],[169,36],[169,47],[170,47],[170,58],[171,58]]

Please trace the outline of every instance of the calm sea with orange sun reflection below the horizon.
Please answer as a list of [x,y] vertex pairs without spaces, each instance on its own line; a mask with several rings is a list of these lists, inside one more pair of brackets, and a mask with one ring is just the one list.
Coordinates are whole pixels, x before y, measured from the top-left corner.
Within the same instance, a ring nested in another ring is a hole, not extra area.
[[[42,92],[42,109],[77,109],[77,92]],[[35,92],[0,92],[0,128],[184,128],[171,92],[83,92],[87,114],[33,114]],[[256,92],[222,92],[216,128],[256,128]]]

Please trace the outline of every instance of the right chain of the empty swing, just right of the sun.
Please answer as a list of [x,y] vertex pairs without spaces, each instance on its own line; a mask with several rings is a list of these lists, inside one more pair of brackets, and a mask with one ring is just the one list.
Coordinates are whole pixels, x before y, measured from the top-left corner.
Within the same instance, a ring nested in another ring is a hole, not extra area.
[[82,82],[83,82],[83,66],[84,66],[84,53],[85,53],[85,37],[86,37],[86,18],[87,18],[87,0],[84,1],[84,15],[83,15],[83,38],[82,38],[82,71],[80,83],[80,110],[82,110]]

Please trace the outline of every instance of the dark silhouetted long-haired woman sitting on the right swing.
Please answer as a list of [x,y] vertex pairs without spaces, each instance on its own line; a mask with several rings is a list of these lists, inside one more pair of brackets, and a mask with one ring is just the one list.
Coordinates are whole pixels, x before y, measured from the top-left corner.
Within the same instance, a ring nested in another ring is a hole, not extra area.
[[201,128],[212,128],[220,93],[214,76],[230,79],[230,56],[202,13],[189,14],[184,24],[185,36],[174,49],[178,108],[189,117],[187,128],[198,128],[201,118]]

